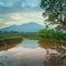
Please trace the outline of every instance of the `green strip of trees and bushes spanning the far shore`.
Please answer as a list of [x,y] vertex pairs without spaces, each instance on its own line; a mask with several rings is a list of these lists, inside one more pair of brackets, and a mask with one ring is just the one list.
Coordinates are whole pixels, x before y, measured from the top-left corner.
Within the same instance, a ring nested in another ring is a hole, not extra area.
[[57,41],[62,43],[66,43],[66,33],[58,29],[44,29],[40,32],[26,32],[26,33],[20,33],[20,32],[1,32],[0,31],[0,38],[12,38],[12,37],[26,37],[26,38],[33,38],[33,40],[52,40]]

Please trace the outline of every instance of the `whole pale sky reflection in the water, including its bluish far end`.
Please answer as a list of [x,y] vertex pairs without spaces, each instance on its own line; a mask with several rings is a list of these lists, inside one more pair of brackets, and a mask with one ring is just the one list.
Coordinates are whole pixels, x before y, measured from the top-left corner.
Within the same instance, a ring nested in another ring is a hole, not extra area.
[[[50,53],[57,54],[55,50],[50,50]],[[18,46],[0,52],[0,63],[4,66],[44,66],[45,59],[46,50],[38,47],[34,40],[24,38]]]

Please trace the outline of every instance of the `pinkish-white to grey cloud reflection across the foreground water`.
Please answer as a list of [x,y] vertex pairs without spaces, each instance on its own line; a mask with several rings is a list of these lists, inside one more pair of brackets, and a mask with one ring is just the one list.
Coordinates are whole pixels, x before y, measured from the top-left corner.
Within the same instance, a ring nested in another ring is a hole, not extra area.
[[[6,66],[41,66],[44,61],[45,53],[41,48],[12,48],[7,52],[0,52],[0,62]],[[9,65],[10,64],[10,65]],[[42,65],[43,66],[43,65]]]

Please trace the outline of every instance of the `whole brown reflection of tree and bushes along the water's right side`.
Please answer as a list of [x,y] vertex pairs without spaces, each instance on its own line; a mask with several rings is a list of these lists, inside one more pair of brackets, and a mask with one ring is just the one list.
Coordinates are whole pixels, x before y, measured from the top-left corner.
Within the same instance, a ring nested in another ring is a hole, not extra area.
[[[40,46],[46,50],[44,66],[66,66],[66,45],[52,41],[41,41]],[[48,50],[56,50],[58,54],[50,54]]]

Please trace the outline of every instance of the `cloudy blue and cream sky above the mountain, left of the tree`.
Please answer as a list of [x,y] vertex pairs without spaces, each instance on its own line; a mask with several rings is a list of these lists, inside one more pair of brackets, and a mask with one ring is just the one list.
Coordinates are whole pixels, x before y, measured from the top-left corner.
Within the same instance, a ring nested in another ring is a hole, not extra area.
[[41,0],[0,0],[0,28],[36,22],[44,24]]

